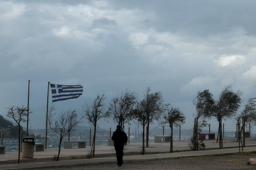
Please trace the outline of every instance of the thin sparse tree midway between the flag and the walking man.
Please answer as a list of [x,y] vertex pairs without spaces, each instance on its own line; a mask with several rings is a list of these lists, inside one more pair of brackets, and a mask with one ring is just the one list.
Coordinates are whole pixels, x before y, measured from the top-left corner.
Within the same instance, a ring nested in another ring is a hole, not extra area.
[[88,119],[88,122],[94,126],[94,134],[93,134],[93,141],[92,141],[92,148],[89,158],[94,158],[95,153],[95,139],[96,139],[96,127],[97,121],[101,118],[108,118],[109,112],[105,108],[104,94],[102,96],[97,95],[97,98],[93,100],[91,104],[86,104],[82,107],[83,108],[83,117]]

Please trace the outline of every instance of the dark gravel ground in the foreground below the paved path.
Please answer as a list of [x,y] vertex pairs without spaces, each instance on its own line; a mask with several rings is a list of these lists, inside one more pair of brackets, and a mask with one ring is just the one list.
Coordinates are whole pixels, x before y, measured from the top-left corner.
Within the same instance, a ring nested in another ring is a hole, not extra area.
[[111,169],[129,169],[129,170],[160,170],[160,169],[183,169],[183,170],[201,170],[201,169],[246,169],[255,170],[256,165],[247,165],[250,158],[256,158],[256,155],[228,155],[212,157],[196,157],[183,159],[154,160],[144,162],[124,163],[121,167],[116,164],[98,164],[84,166],[69,166],[60,168],[40,168],[37,170],[111,170]]

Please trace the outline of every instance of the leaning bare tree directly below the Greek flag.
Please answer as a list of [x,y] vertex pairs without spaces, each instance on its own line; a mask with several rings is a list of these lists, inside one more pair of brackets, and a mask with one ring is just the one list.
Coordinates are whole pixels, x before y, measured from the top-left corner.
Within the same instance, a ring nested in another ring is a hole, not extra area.
[[63,137],[76,130],[76,127],[82,122],[82,117],[80,117],[77,114],[77,110],[74,109],[68,111],[62,110],[61,114],[58,114],[58,118],[56,119],[56,113],[53,113],[55,107],[51,106],[49,110],[47,127],[51,129],[50,132],[55,132],[60,135],[59,152],[56,159],[56,161],[59,161],[60,145]]

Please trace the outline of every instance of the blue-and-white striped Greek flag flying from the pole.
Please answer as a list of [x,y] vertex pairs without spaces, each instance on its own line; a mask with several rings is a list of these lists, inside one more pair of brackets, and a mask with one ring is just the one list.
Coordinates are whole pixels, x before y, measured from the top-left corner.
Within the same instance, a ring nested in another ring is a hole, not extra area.
[[52,102],[75,99],[78,98],[83,93],[83,86],[65,86],[58,84],[50,84],[51,86],[51,94],[52,94]]

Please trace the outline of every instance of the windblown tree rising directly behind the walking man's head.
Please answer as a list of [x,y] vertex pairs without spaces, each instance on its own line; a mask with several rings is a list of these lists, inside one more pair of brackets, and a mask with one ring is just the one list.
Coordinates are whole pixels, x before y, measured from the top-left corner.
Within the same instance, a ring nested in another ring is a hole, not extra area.
[[136,104],[137,94],[134,91],[126,89],[122,92],[120,97],[114,96],[110,103],[109,113],[113,116],[114,122],[121,125],[121,129],[124,130],[124,124],[133,119],[133,109]]

